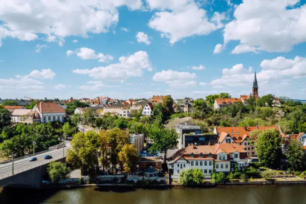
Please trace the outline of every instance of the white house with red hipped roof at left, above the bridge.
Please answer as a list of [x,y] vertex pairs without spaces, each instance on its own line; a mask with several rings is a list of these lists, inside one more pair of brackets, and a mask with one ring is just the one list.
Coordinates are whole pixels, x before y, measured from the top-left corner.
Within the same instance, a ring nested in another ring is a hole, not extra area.
[[41,123],[48,121],[64,122],[66,117],[65,110],[56,102],[39,102],[34,106],[33,110],[38,111]]

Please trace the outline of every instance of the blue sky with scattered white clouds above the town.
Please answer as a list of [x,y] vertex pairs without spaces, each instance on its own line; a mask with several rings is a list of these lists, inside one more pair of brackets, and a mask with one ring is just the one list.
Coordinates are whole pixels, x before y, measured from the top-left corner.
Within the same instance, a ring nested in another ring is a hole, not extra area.
[[0,0],[0,98],[306,99],[306,0]]

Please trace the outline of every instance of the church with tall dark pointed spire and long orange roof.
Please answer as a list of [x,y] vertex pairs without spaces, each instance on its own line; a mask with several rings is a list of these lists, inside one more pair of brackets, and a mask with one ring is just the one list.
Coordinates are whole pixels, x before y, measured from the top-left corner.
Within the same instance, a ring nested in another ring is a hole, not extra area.
[[254,80],[253,80],[253,87],[252,87],[252,93],[249,95],[240,95],[240,97],[236,98],[216,98],[214,100],[213,109],[219,109],[224,108],[227,105],[234,105],[238,101],[242,102],[243,104],[246,104],[247,99],[253,96],[255,100],[259,97],[258,95],[258,83],[256,78],[256,72],[254,72]]

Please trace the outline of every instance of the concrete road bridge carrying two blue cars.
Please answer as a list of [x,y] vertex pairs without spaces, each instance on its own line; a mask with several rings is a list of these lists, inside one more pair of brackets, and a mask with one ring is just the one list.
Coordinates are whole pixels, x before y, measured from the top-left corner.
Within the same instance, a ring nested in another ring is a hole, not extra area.
[[[51,161],[65,159],[66,150],[69,144],[64,149],[54,149],[35,155],[37,160],[29,161],[29,157],[22,158],[13,162],[0,164],[0,186],[25,186],[35,187],[40,186],[42,176],[46,174],[46,168]],[[51,155],[51,159],[44,159],[45,155]]]

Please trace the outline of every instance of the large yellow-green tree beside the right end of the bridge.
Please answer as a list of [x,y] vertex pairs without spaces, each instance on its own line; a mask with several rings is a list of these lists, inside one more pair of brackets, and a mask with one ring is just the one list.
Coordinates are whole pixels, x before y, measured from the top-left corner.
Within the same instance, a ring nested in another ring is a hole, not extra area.
[[94,131],[77,132],[71,141],[71,148],[67,150],[66,161],[76,168],[80,168],[82,174],[93,178],[98,169],[99,135]]

